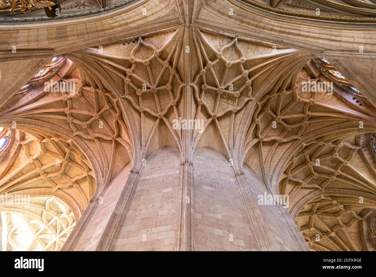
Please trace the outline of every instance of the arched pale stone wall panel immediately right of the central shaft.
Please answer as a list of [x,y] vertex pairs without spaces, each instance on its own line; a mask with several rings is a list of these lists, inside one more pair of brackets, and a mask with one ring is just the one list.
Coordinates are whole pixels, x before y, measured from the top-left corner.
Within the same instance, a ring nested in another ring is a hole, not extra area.
[[195,153],[193,167],[195,250],[256,249],[235,176],[226,159],[206,148]]

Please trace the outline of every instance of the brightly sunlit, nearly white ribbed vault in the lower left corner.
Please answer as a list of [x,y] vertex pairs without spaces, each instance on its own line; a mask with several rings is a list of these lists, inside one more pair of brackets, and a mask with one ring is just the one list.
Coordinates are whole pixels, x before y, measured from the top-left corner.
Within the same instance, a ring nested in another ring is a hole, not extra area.
[[59,251],[76,225],[70,207],[56,196],[32,197],[19,205],[3,201],[0,213],[10,214],[7,248],[15,251]]

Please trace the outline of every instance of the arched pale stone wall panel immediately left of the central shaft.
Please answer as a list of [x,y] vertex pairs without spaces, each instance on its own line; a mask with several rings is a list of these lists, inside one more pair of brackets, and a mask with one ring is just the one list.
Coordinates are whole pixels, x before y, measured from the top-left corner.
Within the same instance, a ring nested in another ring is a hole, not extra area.
[[162,148],[146,161],[130,201],[114,250],[173,251],[180,158]]

